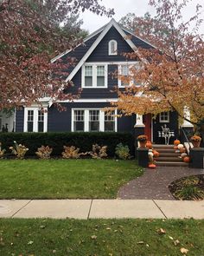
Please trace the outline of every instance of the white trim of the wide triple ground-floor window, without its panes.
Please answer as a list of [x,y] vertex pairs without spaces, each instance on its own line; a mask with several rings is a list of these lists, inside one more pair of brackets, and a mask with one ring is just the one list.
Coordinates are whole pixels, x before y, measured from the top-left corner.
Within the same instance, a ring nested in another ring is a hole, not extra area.
[[[73,115],[74,110],[84,110],[85,116],[84,116],[84,132],[90,132],[89,131],[89,110],[99,110],[99,132],[105,132],[105,111],[103,111],[101,108],[72,108],[72,121],[71,121],[71,130],[74,132],[73,128]],[[115,115],[117,115],[117,110],[115,110]],[[115,116],[115,131],[118,132],[118,118]],[[113,133],[114,133],[113,132]]]

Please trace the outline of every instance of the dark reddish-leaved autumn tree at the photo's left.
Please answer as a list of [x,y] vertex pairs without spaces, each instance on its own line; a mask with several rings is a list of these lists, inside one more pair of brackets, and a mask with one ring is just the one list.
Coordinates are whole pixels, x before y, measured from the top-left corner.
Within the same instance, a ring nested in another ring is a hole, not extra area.
[[53,101],[74,97],[63,93],[62,63],[50,60],[80,43],[69,22],[84,10],[113,14],[98,0],[0,1],[0,109],[39,102],[49,88]]

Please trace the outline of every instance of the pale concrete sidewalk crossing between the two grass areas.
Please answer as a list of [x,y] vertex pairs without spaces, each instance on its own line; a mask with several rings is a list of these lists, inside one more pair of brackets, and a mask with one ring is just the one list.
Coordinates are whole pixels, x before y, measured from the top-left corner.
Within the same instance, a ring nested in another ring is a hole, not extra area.
[[0,200],[0,218],[204,219],[204,200]]

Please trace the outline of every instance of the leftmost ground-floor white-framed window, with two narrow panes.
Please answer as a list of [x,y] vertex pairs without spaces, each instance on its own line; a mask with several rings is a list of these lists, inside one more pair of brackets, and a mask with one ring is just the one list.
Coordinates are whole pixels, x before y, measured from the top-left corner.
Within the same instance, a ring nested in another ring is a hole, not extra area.
[[48,108],[24,108],[24,132],[48,131]]

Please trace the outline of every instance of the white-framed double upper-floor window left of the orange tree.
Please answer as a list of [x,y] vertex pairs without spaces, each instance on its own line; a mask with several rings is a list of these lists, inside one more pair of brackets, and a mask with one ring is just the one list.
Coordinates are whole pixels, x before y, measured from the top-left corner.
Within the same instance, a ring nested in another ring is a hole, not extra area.
[[85,64],[82,66],[82,88],[107,88],[107,64]]

